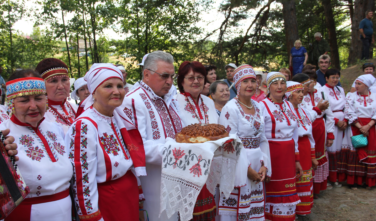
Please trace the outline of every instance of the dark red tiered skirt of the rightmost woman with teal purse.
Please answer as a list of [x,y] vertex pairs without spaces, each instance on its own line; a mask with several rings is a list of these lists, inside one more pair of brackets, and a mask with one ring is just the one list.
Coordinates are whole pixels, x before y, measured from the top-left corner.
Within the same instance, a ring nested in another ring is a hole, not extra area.
[[[363,125],[370,122],[371,118],[359,118]],[[361,132],[355,126],[351,126],[352,135],[360,135]],[[368,132],[368,145],[353,150],[341,151],[341,164],[343,170],[339,174],[339,181],[347,181],[348,184],[375,186],[376,182],[376,128],[372,126]]]

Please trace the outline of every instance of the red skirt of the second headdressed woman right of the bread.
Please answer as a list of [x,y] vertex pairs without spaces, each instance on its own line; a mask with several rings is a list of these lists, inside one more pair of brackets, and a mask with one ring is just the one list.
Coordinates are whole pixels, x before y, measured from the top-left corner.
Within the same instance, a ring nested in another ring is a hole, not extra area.
[[272,204],[295,203],[296,192],[295,144],[290,141],[268,141],[273,173],[266,183],[266,202]]

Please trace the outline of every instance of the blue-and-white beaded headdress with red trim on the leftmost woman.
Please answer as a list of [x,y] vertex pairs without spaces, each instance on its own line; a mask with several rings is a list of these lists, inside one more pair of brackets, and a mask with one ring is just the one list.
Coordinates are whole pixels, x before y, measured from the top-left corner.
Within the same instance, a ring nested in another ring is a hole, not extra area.
[[6,105],[9,115],[15,113],[14,98],[24,95],[45,94],[44,80],[38,77],[23,77],[6,82]]

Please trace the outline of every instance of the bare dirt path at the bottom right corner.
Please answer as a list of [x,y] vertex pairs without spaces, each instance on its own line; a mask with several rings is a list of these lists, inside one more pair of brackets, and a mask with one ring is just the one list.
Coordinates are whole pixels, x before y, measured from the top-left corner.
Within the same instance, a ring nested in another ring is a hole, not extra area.
[[314,200],[311,214],[298,216],[297,221],[376,221],[376,188],[342,187],[321,191]]

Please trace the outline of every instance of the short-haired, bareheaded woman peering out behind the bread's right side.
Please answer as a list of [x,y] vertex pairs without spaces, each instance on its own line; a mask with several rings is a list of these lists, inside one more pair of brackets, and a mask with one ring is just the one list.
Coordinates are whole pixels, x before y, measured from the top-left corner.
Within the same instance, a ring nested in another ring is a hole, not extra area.
[[210,85],[209,94],[214,101],[215,111],[217,111],[217,114],[219,116],[221,114],[222,108],[230,99],[229,86],[222,80],[216,80]]

